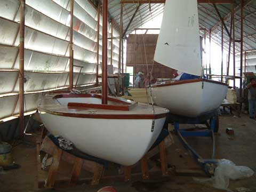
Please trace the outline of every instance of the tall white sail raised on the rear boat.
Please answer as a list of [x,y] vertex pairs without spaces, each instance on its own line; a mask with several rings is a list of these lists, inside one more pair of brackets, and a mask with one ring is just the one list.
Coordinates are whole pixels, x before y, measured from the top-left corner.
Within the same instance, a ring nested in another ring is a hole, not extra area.
[[167,0],[154,60],[201,76],[197,0]]

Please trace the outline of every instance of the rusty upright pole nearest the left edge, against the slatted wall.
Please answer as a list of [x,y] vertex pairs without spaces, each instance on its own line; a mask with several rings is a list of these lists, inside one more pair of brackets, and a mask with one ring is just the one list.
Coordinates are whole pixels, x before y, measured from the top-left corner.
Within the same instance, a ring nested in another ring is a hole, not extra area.
[[20,65],[19,65],[19,99],[20,99],[20,137],[23,137],[24,120],[24,37],[25,37],[25,6],[26,0],[20,0]]

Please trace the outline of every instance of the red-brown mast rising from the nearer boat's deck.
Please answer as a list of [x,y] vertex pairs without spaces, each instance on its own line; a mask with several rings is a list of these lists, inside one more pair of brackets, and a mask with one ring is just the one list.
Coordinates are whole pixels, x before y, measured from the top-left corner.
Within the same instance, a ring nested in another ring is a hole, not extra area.
[[102,20],[102,104],[108,104],[108,0],[103,1]]

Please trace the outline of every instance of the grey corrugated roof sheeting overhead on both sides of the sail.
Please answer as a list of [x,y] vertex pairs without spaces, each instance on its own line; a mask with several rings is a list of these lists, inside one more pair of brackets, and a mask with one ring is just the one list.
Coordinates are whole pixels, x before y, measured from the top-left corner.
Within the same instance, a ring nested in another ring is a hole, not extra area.
[[[132,1],[132,0],[130,0]],[[101,0],[102,2],[102,0]],[[241,16],[239,0],[235,1],[235,37],[240,39],[241,30]],[[244,0],[244,51],[256,50],[256,1],[254,0]],[[138,7],[139,6],[139,7]],[[225,20],[225,24],[228,29],[230,29],[230,19],[231,19],[231,4],[216,4],[220,15]],[[109,0],[108,11],[110,17],[120,25],[120,10],[121,3],[120,0]],[[156,17],[157,15],[163,13],[164,4],[123,4],[123,29],[129,26],[129,22],[132,17],[133,20],[130,26],[126,29],[126,35],[130,34],[134,28],[139,28],[145,24],[150,19]],[[134,16],[133,16],[134,15]],[[199,15],[199,25],[201,28],[206,28],[207,31],[212,29],[212,40],[215,43],[221,44],[221,20],[217,11],[214,9],[212,3],[198,3],[198,15]],[[152,26],[154,27],[154,26]],[[228,50],[229,36],[224,30],[224,46]],[[231,49],[232,50],[232,49]],[[236,51],[240,50],[240,43],[236,43]]]

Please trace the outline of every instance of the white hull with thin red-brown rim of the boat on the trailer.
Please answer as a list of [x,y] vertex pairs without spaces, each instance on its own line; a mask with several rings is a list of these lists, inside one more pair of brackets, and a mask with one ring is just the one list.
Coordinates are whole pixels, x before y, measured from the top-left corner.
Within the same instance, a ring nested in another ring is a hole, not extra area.
[[209,80],[193,81],[151,87],[154,103],[172,114],[187,117],[198,117],[217,109],[226,97],[228,86]]

